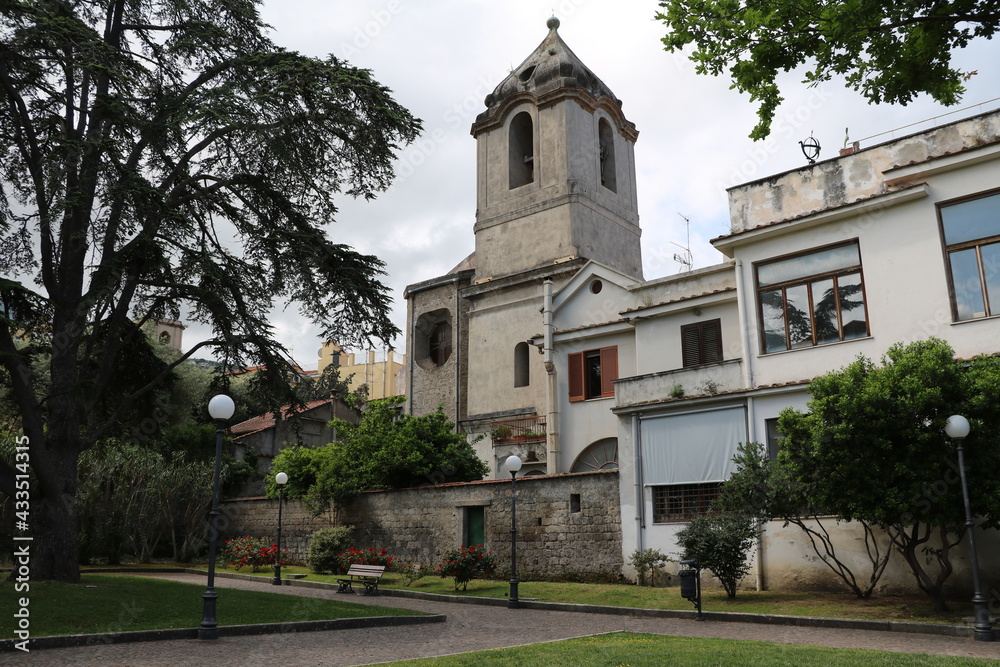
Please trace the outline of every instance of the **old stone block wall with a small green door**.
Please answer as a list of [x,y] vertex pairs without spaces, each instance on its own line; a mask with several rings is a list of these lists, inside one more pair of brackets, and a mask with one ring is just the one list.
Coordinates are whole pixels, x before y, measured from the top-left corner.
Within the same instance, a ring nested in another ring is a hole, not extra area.
[[[313,531],[346,524],[355,526],[358,547],[385,547],[403,561],[436,566],[445,551],[467,543],[466,519],[482,508],[486,548],[509,574],[510,487],[509,480],[484,480],[372,491],[318,518],[288,501],[282,545],[292,560],[304,560]],[[277,518],[276,500],[240,499],[223,503],[220,526],[224,539],[274,537]],[[522,580],[617,579],[623,565],[617,471],[518,478],[517,558]]]

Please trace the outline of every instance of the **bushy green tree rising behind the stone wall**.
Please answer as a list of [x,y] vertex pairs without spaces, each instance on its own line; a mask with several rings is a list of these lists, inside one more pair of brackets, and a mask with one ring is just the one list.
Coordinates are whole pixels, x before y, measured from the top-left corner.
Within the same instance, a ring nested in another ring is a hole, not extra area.
[[[314,450],[283,450],[272,469],[288,473],[288,497],[303,498],[318,514],[333,504],[351,502],[362,491],[467,482],[489,472],[444,413],[401,414],[397,408],[403,400],[371,401],[358,424],[334,420],[338,442]],[[277,496],[273,478],[267,493]]]

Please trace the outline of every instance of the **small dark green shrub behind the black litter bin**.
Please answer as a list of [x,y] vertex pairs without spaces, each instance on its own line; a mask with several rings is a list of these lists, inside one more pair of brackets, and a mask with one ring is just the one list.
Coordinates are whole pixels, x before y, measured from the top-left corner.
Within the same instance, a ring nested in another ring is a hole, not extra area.
[[747,556],[759,536],[758,522],[739,512],[697,516],[677,533],[683,558],[697,558],[711,570],[726,594],[736,597],[740,580],[750,571]]

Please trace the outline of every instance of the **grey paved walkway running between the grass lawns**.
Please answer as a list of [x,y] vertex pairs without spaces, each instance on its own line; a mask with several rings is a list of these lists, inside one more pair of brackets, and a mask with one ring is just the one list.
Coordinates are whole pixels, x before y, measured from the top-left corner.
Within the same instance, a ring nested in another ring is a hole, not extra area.
[[[158,575],[175,581],[204,584],[193,574]],[[333,597],[330,590],[271,586],[258,582],[216,579],[216,588],[251,588],[286,595]],[[343,599],[343,596],[341,596]],[[813,644],[836,648],[868,648],[906,653],[993,658],[1000,665],[1000,642],[984,643],[967,638],[924,634],[836,630],[754,623],[697,622],[683,619],[635,618],[451,602],[428,602],[399,597],[351,601],[387,607],[419,609],[446,614],[445,623],[367,628],[329,632],[301,632],[251,637],[225,637],[215,641],[197,639],[99,645],[67,649],[37,650],[28,654],[5,654],[9,665],[63,665],[90,667],[142,667],[146,665],[369,665],[393,660],[422,658],[481,649],[569,639],[602,632],[627,630],[686,637],[755,639],[786,644]],[[150,601],[153,603],[154,601]],[[223,629],[224,633],[225,630]]]

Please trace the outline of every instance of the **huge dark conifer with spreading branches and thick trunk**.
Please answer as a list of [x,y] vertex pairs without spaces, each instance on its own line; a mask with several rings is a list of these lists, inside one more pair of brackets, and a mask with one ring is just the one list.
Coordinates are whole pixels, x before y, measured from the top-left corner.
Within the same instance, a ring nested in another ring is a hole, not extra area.
[[[34,579],[79,579],[81,452],[155,409],[142,402],[202,346],[226,369],[266,366],[279,388],[276,302],[327,340],[397,333],[383,263],[325,226],[337,196],[389,185],[420,122],[367,70],[276,46],[258,4],[9,0],[0,13],[0,367],[37,479]],[[151,356],[142,325],[182,311],[213,337],[136,363]]]

